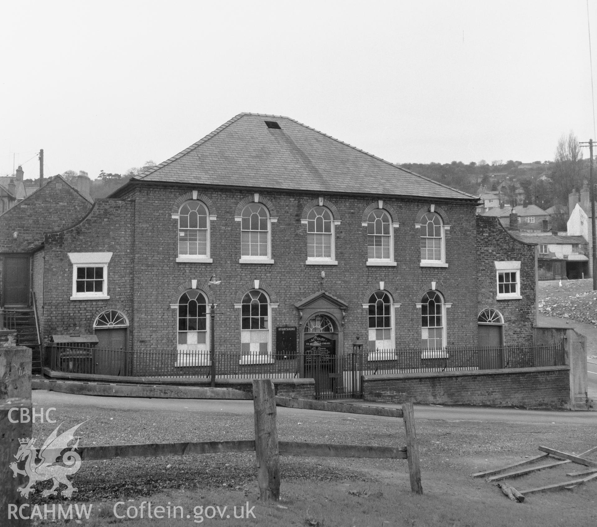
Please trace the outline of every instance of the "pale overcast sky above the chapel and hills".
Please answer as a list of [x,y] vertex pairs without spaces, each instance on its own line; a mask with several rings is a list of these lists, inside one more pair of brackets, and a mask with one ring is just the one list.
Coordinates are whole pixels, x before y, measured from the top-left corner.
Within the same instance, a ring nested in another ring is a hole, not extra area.
[[[595,68],[597,0],[589,12]],[[595,138],[586,0],[53,0],[1,13],[0,175],[14,158],[38,176],[40,148],[46,176],[122,173],[242,111],[395,163],[543,161],[564,132]]]

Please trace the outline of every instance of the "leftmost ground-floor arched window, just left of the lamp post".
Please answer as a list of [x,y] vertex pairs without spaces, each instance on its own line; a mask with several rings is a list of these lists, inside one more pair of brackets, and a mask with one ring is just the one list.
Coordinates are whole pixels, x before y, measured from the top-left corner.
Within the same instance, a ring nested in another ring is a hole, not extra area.
[[207,299],[196,289],[179,299],[177,366],[209,364]]

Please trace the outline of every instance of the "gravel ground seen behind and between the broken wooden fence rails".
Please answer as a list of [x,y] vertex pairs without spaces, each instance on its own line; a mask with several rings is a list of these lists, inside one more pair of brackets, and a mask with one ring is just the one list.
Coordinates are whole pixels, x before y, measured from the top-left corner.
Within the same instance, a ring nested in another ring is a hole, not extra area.
[[[253,416],[227,413],[190,413],[180,401],[178,411],[115,410],[69,407],[54,414],[60,430],[87,420],[79,429],[87,445],[142,444],[146,442],[223,441],[252,439]],[[34,437],[47,437],[56,427],[36,423]],[[278,435],[285,441],[329,442],[397,446],[405,444],[401,419],[347,416],[326,412],[300,415],[278,408]],[[424,481],[466,479],[470,473],[501,466],[525,455],[536,455],[539,445],[581,452],[596,444],[597,426],[509,424],[478,421],[417,420]],[[282,457],[281,478],[295,481],[380,482],[404,479],[404,460]],[[155,494],[164,489],[239,489],[256,487],[254,454],[209,454],[156,458],[125,458],[82,464],[74,478],[76,501],[109,501]],[[43,498],[39,483],[32,503],[64,501]]]

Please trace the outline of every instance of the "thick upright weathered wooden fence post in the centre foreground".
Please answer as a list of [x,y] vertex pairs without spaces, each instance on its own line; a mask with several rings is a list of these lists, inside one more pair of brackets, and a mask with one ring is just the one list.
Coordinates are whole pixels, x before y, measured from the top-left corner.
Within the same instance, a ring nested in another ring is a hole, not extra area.
[[255,408],[255,453],[257,483],[261,501],[280,498],[278,429],[276,428],[276,394],[271,379],[253,380]]

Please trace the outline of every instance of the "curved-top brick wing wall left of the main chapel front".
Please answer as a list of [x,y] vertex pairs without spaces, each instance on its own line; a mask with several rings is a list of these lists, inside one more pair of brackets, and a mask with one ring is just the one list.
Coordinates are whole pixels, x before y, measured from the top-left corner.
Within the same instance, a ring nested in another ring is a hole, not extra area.
[[[44,335],[91,334],[106,309],[130,314],[133,295],[134,201],[99,200],[81,223],[45,235]],[[107,266],[109,299],[70,300],[73,265],[70,252],[112,252]],[[147,287],[150,287],[147,284]],[[129,331],[129,338],[131,331]]]

